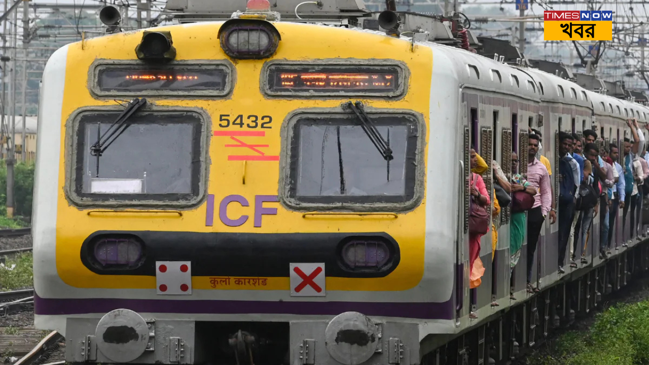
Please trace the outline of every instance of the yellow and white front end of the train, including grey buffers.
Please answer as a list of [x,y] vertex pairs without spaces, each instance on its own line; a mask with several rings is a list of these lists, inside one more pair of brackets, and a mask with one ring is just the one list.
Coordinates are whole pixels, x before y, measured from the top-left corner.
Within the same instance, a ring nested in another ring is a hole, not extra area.
[[432,50],[258,18],[49,60],[35,312],[68,361],[415,364],[454,323],[454,248],[424,245]]

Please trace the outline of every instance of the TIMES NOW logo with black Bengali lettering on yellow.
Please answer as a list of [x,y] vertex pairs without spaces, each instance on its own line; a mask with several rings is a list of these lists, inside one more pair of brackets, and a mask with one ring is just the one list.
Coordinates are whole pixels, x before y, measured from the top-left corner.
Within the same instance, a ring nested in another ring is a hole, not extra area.
[[611,10],[547,10],[544,40],[613,40]]

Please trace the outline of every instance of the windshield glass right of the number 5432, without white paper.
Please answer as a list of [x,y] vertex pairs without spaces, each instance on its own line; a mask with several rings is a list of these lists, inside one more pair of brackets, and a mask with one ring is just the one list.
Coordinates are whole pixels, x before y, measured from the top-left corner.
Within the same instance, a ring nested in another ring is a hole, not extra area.
[[289,197],[304,203],[399,203],[415,189],[417,123],[408,116],[372,116],[392,151],[378,153],[361,123],[303,118],[291,141]]

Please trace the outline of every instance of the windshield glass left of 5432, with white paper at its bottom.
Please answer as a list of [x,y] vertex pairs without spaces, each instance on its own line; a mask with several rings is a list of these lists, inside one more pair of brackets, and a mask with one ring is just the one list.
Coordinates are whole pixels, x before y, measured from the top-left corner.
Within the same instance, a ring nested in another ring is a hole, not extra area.
[[76,118],[75,174],[70,189],[73,196],[81,203],[102,201],[103,204],[106,201],[187,204],[199,199],[204,161],[201,114],[137,112],[127,121],[129,127],[112,144],[104,145],[100,157],[95,156],[91,147],[119,114],[121,111],[91,111],[82,112]]

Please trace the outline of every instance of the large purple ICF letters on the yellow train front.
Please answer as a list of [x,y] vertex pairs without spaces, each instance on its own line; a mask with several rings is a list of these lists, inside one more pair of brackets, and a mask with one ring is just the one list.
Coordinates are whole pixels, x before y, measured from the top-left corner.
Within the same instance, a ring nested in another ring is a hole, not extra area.
[[[274,216],[277,214],[277,208],[264,207],[264,203],[276,203],[278,201],[277,195],[254,195],[254,210],[253,212],[253,221],[254,227],[262,227],[262,218],[263,216]],[[219,202],[218,207],[214,205],[214,194],[207,195],[207,211],[205,215],[205,225],[206,227],[212,227],[214,225],[214,213],[215,208],[217,208],[217,216],[221,223],[227,225],[228,227],[239,227],[243,223],[249,220],[247,214],[241,216],[232,216],[228,214],[228,207],[232,204],[238,204],[241,207],[250,207],[250,202],[248,199],[243,197],[243,195],[227,195]]]

